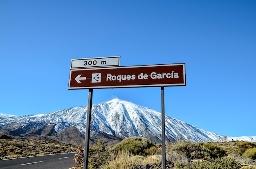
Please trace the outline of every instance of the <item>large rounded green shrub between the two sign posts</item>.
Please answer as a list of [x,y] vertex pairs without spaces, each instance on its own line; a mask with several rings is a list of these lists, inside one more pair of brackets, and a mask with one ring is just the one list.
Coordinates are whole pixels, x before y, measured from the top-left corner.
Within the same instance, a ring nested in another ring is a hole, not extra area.
[[152,147],[156,148],[156,145],[146,138],[130,137],[112,147],[110,152],[128,151],[130,154],[146,156],[151,154],[152,150],[155,150]]

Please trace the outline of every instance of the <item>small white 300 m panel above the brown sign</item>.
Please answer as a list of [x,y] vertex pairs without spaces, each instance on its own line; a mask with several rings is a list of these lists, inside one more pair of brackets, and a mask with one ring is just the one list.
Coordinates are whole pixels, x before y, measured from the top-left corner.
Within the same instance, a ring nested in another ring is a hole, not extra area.
[[70,69],[120,66],[120,56],[72,59]]

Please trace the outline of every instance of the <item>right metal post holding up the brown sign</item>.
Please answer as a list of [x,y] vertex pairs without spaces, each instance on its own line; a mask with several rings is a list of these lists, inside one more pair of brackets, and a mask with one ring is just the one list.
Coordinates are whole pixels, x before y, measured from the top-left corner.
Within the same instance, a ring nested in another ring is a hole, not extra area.
[[164,87],[161,87],[161,109],[162,109],[162,165],[165,169],[165,119],[164,119]]

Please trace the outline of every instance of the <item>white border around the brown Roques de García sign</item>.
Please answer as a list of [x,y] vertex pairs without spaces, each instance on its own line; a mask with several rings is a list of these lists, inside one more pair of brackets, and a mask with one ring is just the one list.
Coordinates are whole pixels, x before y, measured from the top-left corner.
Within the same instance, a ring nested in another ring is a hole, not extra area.
[[83,68],[83,69],[70,69],[70,78],[68,83],[68,90],[76,90],[76,89],[107,89],[107,88],[141,88],[141,87],[161,87],[161,86],[186,86],[186,72],[185,72],[185,63],[181,64],[155,64],[155,65],[140,65],[140,66],[119,66],[119,67],[108,67],[108,69],[120,69],[120,68],[142,68],[142,67],[159,67],[159,66],[183,66],[183,79],[184,83],[175,83],[175,84],[148,84],[148,85],[120,85],[120,86],[92,86],[92,87],[70,87],[71,82],[71,72],[72,71],[80,71],[80,70],[101,70],[106,69],[106,67],[102,68]]

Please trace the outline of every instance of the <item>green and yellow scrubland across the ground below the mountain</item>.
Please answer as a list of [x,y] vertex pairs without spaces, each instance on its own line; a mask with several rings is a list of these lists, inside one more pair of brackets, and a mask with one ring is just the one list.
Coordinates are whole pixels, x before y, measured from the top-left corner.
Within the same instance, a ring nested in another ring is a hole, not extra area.
[[[0,139],[0,159],[77,152],[83,168],[84,147],[37,139]],[[162,145],[131,137],[113,147],[102,140],[89,147],[88,169],[161,169]],[[166,169],[256,169],[256,143],[243,141],[166,143]]]

